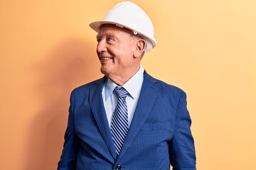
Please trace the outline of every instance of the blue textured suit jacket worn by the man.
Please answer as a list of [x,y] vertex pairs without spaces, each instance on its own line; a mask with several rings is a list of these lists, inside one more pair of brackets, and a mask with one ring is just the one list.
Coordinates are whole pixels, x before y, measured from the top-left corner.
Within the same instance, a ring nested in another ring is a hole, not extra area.
[[[195,170],[196,154],[186,94],[150,77],[144,82],[129,132],[117,155],[102,102],[106,77],[75,89],[70,97],[59,170]],[[120,167],[119,166],[119,167]]]

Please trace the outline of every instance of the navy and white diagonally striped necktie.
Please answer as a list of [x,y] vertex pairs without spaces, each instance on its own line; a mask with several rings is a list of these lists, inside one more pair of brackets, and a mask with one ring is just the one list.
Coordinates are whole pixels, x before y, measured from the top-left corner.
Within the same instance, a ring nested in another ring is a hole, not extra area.
[[116,148],[117,154],[119,154],[128,132],[128,112],[125,101],[128,92],[122,86],[117,86],[114,91],[118,96],[118,100],[112,118],[111,133],[114,140],[114,147]]

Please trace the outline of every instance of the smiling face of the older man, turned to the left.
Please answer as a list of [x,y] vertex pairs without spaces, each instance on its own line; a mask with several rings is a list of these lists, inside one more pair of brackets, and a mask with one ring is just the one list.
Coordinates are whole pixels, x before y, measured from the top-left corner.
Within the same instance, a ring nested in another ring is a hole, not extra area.
[[102,27],[97,35],[97,55],[102,74],[110,79],[127,79],[139,69],[140,60],[134,57],[137,39],[130,33],[113,27]]

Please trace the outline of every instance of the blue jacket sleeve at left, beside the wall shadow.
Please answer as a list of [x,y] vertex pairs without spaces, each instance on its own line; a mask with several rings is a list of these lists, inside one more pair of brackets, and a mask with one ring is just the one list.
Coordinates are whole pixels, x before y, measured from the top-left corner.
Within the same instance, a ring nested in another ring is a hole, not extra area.
[[74,92],[70,96],[70,108],[68,115],[68,127],[65,131],[63,152],[58,162],[58,170],[75,170],[80,143],[74,130]]

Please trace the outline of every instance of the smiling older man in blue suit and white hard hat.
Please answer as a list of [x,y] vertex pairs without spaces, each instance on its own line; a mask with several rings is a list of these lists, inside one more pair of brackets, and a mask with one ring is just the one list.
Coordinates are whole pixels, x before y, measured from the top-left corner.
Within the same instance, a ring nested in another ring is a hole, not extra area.
[[58,169],[195,170],[186,94],[140,64],[156,45],[149,17],[122,2],[90,27],[105,77],[72,92]]

